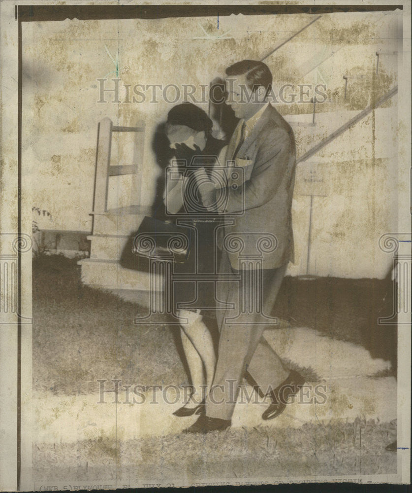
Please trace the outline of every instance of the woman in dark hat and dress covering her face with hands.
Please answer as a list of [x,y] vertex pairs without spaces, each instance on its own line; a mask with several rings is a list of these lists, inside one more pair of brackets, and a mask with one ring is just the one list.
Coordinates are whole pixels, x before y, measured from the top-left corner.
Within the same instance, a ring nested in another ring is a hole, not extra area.
[[[212,120],[199,107],[191,103],[174,106],[168,113],[166,135],[174,150],[176,173],[166,179],[164,202],[167,214],[184,217],[186,223],[196,228],[198,236],[197,259],[193,255],[188,264],[175,265],[175,273],[213,274],[217,265],[214,230],[219,223],[213,203],[214,169],[224,162],[225,142],[211,135]],[[170,174],[168,175],[170,176]],[[194,187],[193,187],[194,185]],[[217,185],[218,188],[218,185]],[[212,201],[213,202],[213,201]],[[191,254],[191,253],[190,253]],[[197,262],[194,269],[193,261]],[[215,315],[213,282],[176,282],[173,292],[175,313],[181,320],[181,338],[190,369],[193,392],[176,416],[200,414],[215,372],[216,355],[212,335],[205,324],[208,316]],[[182,308],[182,305],[185,308]],[[179,308],[180,306],[180,308]]]

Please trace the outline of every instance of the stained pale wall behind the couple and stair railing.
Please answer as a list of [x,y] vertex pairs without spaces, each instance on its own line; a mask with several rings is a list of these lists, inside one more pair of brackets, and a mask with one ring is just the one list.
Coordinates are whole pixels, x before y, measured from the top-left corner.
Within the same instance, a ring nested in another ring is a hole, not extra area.
[[[379,74],[374,75],[376,51],[390,51],[396,44],[396,16],[325,15],[267,58],[275,87],[327,84],[329,101],[317,105],[316,127],[294,127],[298,155],[348,121],[374,95],[396,84],[393,57],[381,57]],[[160,170],[151,141],[173,104],[162,98],[158,103],[125,103],[122,91],[121,104],[97,103],[97,79],[116,76],[110,73],[115,67],[105,46],[113,57],[119,50],[121,87],[208,84],[235,61],[261,58],[312,19],[309,15],[232,15],[220,18],[219,30],[215,18],[23,23],[26,219],[31,220],[34,205],[52,213],[52,221],[43,227],[91,229],[97,123],[105,116],[115,125],[146,122],[142,194],[139,198],[127,184],[125,193],[132,203],[153,201]],[[221,37],[195,39],[205,36],[202,28],[210,36]],[[346,100],[345,74],[365,75],[349,81]],[[354,90],[355,83],[360,91]],[[385,109],[375,111],[374,120],[371,114],[309,160],[321,165],[327,187],[327,197],[313,201],[312,274],[382,277],[389,268],[377,245],[380,234],[396,227],[396,103],[392,98]],[[207,107],[205,103],[203,108]],[[311,121],[311,104],[277,107],[295,124]],[[300,195],[301,184],[306,183],[300,171],[308,169],[305,164],[298,168],[293,206],[297,249],[296,265],[290,269],[293,274],[307,271],[310,197]]]

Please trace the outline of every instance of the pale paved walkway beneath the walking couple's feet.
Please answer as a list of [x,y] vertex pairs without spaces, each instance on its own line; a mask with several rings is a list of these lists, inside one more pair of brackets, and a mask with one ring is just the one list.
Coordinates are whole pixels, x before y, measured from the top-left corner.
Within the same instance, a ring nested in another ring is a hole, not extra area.
[[[353,422],[358,417],[380,422],[396,419],[396,379],[379,376],[390,369],[388,361],[373,359],[361,346],[319,336],[308,328],[267,331],[265,337],[282,358],[312,368],[319,381],[307,382],[285,412],[269,422],[261,419],[267,403],[261,402],[251,387],[245,387],[239,395],[233,427],[298,427],[334,420]],[[110,390],[113,384],[106,382],[105,388]],[[248,395],[252,396],[249,402]],[[181,432],[196,419],[172,415],[181,405],[183,392],[178,402],[171,403],[176,394],[170,387],[158,390],[155,398],[153,389],[140,394],[130,389],[128,399],[121,391],[118,404],[113,403],[113,396],[113,392],[105,393],[104,404],[98,403],[98,392],[33,399],[33,441],[72,443],[104,438],[113,436],[116,427],[119,440],[163,436]],[[136,403],[132,403],[133,396]]]

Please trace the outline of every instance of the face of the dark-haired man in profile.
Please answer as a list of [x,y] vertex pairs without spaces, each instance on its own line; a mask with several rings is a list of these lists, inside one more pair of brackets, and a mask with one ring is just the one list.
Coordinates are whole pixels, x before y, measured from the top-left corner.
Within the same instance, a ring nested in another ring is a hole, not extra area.
[[259,97],[249,89],[246,75],[226,77],[225,88],[227,93],[226,104],[230,106],[236,118],[248,120],[260,108]]

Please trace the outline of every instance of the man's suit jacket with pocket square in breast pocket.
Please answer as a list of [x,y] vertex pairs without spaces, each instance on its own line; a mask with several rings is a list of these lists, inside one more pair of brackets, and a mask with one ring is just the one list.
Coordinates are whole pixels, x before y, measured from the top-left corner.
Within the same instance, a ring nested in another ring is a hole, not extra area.
[[[229,142],[226,160],[233,155],[233,144],[233,141]],[[291,208],[296,168],[295,138],[290,125],[270,104],[239,148],[235,161],[236,165],[249,163],[247,174],[250,176],[243,187],[229,188],[225,213],[229,216],[243,213],[233,216],[235,224],[225,227],[225,235],[242,236],[245,244],[242,255],[258,253],[256,241],[259,236],[273,235],[277,247],[263,254],[263,269],[280,267],[289,260],[293,262]],[[238,268],[239,254],[229,253],[229,258],[232,267]]]

